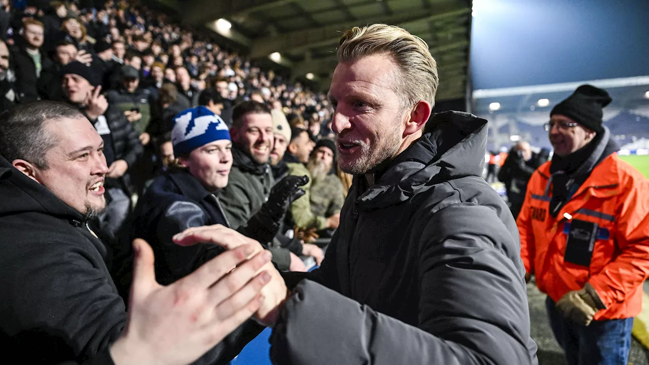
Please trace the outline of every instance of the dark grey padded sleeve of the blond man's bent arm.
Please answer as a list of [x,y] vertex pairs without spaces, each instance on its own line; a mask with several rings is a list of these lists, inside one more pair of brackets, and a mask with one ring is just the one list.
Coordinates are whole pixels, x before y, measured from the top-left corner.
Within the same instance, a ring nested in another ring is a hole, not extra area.
[[273,331],[273,363],[536,364],[517,243],[495,212],[458,205],[422,224],[416,327],[302,281]]

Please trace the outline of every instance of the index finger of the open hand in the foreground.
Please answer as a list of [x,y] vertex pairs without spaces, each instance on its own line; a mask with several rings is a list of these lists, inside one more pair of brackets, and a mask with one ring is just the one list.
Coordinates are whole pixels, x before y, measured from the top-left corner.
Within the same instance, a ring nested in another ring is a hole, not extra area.
[[244,245],[232,251],[221,253],[221,255],[202,264],[200,268],[181,279],[181,281],[190,288],[209,288],[241,262],[247,260],[248,257],[254,254],[255,249],[254,245]]

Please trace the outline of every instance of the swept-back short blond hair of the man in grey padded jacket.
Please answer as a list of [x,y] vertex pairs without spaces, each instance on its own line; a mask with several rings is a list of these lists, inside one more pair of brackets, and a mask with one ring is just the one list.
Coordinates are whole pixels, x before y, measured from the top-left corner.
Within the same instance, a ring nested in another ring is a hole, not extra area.
[[380,53],[391,55],[399,66],[395,92],[404,95],[404,107],[420,100],[428,101],[431,107],[435,105],[439,85],[437,62],[428,44],[405,29],[387,24],[354,27],[340,39],[336,58],[338,62],[355,62]]

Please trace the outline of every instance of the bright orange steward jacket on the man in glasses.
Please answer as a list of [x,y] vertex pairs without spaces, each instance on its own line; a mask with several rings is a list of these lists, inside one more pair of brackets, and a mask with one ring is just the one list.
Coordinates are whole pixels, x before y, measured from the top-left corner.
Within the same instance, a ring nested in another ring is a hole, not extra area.
[[[556,218],[548,213],[550,162],[535,171],[517,219],[520,256],[541,290],[558,301],[590,283],[607,309],[594,319],[636,316],[649,276],[649,181],[617,153],[595,166]],[[565,214],[567,213],[567,214]],[[599,225],[589,267],[564,262],[571,220]]]

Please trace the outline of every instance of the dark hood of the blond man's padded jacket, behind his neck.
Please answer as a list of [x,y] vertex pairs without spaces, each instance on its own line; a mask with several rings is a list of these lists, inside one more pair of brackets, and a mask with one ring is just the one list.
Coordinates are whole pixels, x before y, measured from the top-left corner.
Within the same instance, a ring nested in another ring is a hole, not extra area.
[[358,207],[383,208],[444,181],[482,176],[486,145],[486,120],[463,112],[435,114],[421,138],[398,155],[376,184],[358,198]]

